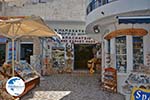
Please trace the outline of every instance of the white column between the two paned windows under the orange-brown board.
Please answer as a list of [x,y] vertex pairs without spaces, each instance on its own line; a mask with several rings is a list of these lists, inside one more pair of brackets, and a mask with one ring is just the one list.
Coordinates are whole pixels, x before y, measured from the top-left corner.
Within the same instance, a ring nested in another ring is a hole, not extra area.
[[133,40],[132,36],[126,36],[127,44],[127,73],[133,70]]

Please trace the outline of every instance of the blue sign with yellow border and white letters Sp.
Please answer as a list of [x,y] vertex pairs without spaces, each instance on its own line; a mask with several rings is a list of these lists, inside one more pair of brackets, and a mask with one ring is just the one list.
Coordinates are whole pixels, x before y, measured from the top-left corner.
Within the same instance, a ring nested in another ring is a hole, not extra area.
[[134,87],[131,100],[150,100],[150,90]]

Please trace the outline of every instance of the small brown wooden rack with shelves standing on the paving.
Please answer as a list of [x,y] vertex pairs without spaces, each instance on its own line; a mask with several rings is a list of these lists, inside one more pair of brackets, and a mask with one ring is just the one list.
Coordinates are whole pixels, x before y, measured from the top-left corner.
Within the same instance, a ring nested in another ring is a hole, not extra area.
[[109,67],[105,68],[102,89],[110,92],[117,92],[117,71],[116,69]]

